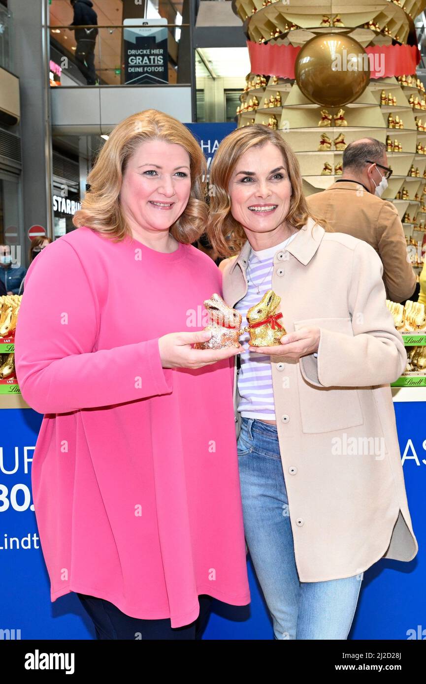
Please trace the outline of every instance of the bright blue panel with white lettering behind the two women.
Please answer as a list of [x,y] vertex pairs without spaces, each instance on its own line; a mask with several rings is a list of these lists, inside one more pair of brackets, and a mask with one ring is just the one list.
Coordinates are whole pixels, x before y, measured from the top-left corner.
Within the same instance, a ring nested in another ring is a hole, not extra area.
[[[364,573],[352,639],[426,638],[426,404],[401,402],[394,408],[419,551],[410,563],[381,560]],[[75,594],[50,601],[31,493],[41,421],[30,409],[0,411],[0,629],[19,629],[21,639],[92,639],[95,633]],[[205,639],[272,638],[250,562],[249,579],[251,605],[231,607],[215,601]]]

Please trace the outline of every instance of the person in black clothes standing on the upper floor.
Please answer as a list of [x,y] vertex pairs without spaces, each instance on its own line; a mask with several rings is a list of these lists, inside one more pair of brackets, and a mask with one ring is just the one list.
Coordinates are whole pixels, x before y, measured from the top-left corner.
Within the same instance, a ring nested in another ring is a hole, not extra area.
[[95,70],[95,44],[98,34],[98,17],[93,9],[92,0],[70,0],[74,10],[74,18],[71,26],[88,26],[93,28],[74,29],[75,59],[77,66],[87,81],[88,86],[95,86],[97,77]]

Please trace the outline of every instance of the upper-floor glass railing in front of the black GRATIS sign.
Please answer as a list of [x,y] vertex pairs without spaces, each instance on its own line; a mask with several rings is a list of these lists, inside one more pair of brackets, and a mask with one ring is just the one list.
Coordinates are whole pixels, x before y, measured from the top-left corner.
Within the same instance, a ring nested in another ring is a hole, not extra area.
[[51,86],[188,83],[179,79],[178,62],[189,25],[158,18],[137,22],[49,27]]

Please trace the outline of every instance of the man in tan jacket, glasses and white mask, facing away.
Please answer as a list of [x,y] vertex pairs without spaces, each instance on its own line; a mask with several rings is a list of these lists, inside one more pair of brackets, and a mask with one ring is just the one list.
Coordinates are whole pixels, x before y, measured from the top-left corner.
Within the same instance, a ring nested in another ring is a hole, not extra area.
[[407,259],[397,209],[381,200],[391,174],[386,145],[364,137],[344,150],[342,177],[307,200],[310,211],[323,216],[334,231],[358,237],[376,250],[383,264],[386,297],[405,302],[414,293],[416,276]]

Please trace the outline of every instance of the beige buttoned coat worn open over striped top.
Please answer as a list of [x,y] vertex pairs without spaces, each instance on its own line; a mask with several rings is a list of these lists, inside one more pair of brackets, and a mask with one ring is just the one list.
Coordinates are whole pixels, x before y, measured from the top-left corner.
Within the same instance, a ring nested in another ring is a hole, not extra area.
[[[229,306],[247,292],[250,251],[247,241],[225,267]],[[273,264],[286,331],[321,330],[318,358],[271,357],[299,580],[351,577],[381,557],[410,561],[418,545],[389,386],[407,356],[381,261],[366,242],[310,218]],[[234,392],[238,402],[237,382]]]

